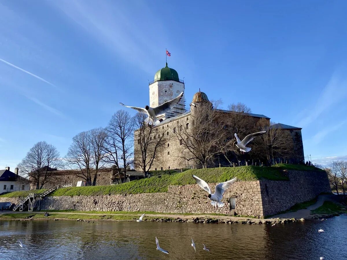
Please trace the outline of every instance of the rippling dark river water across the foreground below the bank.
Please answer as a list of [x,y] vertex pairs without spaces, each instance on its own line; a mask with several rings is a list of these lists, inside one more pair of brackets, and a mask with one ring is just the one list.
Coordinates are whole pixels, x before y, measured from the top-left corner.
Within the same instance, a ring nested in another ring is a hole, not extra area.
[[[318,229],[324,233],[318,233]],[[161,248],[156,251],[155,236]],[[191,246],[196,243],[196,253]],[[21,248],[21,240],[27,249]],[[204,243],[210,252],[203,251]],[[0,220],[0,259],[347,259],[347,215],[271,225]]]

